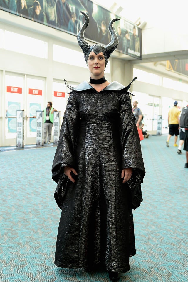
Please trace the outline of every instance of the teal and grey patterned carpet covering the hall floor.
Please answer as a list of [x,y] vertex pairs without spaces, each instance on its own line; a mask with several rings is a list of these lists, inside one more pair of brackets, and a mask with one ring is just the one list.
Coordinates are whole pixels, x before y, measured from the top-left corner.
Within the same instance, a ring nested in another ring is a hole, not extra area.
[[[172,137],[173,138],[173,137]],[[141,141],[146,176],[143,203],[134,211],[137,254],[129,282],[187,282],[188,213],[185,151],[166,147],[166,136]],[[56,147],[0,152],[0,281],[108,282],[106,272],[86,273],[53,264],[60,209],[53,198]]]

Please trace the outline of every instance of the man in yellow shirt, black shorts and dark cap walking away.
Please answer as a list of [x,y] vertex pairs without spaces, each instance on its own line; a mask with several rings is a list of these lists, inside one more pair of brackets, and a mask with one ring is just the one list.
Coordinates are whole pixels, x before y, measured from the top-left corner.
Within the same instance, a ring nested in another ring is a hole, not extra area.
[[174,106],[172,107],[172,109],[169,110],[168,113],[169,135],[166,142],[167,147],[169,147],[170,137],[173,136],[174,134],[175,134],[174,147],[178,146],[176,142],[177,142],[177,136],[179,134],[179,114],[180,111],[177,109],[177,101],[175,101]]

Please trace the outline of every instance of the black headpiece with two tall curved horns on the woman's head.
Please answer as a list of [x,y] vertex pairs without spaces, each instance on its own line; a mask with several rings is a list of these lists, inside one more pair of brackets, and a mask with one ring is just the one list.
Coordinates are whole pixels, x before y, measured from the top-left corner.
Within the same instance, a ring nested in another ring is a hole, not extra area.
[[119,21],[119,19],[116,18],[116,19],[111,20],[109,25],[108,25],[108,29],[109,29],[110,34],[111,34],[111,42],[108,45],[103,46],[103,45],[100,45],[100,44],[95,44],[93,46],[90,46],[89,43],[84,38],[85,29],[88,27],[88,24],[89,24],[89,17],[88,17],[87,14],[85,14],[82,11],[80,11],[80,13],[82,13],[84,15],[85,22],[84,22],[83,26],[81,27],[80,31],[78,32],[77,40],[78,40],[78,44],[79,44],[80,48],[82,49],[82,51],[84,53],[84,58],[85,58],[86,64],[88,65],[89,54],[90,54],[91,51],[93,51],[96,55],[100,52],[103,52],[103,55],[105,57],[105,65],[107,65],[110,55],[117,48],[117,45],[118,45],[117,34],[116,34],[115,30],[113,29],[112,24],[115,21]]

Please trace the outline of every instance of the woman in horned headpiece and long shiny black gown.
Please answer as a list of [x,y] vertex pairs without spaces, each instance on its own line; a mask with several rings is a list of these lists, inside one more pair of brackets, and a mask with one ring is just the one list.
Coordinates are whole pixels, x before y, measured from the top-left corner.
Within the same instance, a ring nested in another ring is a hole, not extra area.
[[[62,209],[55,265],[107,270],[111,281],[130,269],[135,255],[132,208],[142,201],[145,169],[128,86],[106,81],[104,70],[118,39],[90,46],[78,33],[90,82],[71,89],[52,173],[55,199]],[[133,79],[135,80],[135,79]]]

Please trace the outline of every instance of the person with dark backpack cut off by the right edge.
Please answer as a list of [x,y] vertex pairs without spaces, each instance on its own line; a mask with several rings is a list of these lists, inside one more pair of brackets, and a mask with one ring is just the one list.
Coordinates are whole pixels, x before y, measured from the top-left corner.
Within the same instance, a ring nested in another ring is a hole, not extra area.
[[180,116],[180,128],[185,129],[184,150],[186,151],[185,168],[188,168],[188,105],[182,109]]

